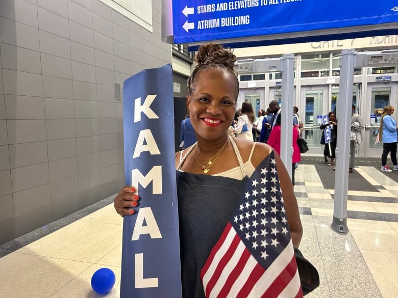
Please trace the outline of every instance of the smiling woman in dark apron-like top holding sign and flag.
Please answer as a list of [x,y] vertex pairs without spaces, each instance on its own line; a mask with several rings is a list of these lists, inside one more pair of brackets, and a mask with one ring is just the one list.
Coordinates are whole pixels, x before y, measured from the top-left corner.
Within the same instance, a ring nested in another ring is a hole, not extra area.
[[[275,160],[293,246],[302,238],[293,187],[280,157],[266,144],[229,137],[239,92],[235,60],[221,45],[202,45],[188,79],[186,106],[197,142],[176,153],[184,298],[205,297],[200,271],[229,222],[247,176],[260,162]],[[272,166],[269,161],[267,167]],[[139,199],[134,188],[125,186],[114,199],[115,209],[121,216],[134,214],[131,207]]]

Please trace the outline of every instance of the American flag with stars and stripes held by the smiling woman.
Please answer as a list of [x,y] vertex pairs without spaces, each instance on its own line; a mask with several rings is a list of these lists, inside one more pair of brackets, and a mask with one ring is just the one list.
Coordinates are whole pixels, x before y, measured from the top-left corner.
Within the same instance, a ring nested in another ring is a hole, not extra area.
[[247,180],[201,279],[207,298],[303,297],[273,152]]

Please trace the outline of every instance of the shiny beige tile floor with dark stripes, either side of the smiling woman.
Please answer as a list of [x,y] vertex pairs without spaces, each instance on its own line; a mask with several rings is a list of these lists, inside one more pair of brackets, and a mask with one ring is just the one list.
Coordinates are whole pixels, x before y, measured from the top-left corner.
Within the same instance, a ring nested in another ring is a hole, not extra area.
[[[381,189],[349,191],[346,235],[330,228],[334,190],[324,188],[313,165],[296,171],[304,226],[300,248],[320,276],[320,286],[306,297],[398,297],[398,183],[374,167],[355,170],[350,175],[362,175]],[[111,202],[107,198],[0,246],[0,297],[119,297],[122,218]],[[92,274],[101,267],[116,275],[107,295],[90,287]]]

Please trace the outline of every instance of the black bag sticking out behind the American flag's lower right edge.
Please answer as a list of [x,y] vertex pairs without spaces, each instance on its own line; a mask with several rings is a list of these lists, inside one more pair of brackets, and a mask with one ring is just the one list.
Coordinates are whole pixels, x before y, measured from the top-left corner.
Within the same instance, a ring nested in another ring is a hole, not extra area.
[[294,256],[299,270],[301,288],[303,294],[306,295],[319,286],[318,270],[303,256],[299,249],[294,248]]

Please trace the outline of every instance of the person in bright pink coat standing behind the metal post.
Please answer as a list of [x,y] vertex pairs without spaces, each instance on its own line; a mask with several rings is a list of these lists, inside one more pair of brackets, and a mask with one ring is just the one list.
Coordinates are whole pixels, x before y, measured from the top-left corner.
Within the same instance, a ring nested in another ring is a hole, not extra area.
[[[291,167],[291,183],[294,185],[294,166],[296,162],[301,161],[301,153],[297,139],[300,138],[299,129],[292,126],[293,129],[293,156],[292,156],[292,167]],[[271,133],[267,144],[277,151],[278,155],[281,155],[281,114],[278,115],[276,125],[272,127]]]

